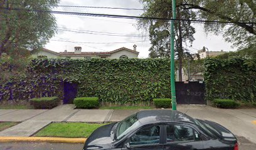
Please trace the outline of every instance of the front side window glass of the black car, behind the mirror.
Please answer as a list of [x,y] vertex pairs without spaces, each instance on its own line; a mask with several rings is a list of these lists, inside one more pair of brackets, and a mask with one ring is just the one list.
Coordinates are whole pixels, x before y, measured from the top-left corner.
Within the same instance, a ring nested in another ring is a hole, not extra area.
[[159,144],[160,126],[150,126],[131,136],[130,146]]

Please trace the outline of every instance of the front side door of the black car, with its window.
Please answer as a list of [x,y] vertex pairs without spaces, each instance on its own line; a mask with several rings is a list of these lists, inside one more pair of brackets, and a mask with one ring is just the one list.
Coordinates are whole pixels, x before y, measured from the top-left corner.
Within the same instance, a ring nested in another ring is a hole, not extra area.
[[122,149],[163,150],[163,126],[146,126],[131,134]]

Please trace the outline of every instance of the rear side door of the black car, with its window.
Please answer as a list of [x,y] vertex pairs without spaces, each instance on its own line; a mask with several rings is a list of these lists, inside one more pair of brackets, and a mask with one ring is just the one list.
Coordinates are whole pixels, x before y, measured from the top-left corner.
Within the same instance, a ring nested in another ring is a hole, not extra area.
[[203,149],[200,134],[192,126],[184,124],[167,124],[164,126],[165,150]]

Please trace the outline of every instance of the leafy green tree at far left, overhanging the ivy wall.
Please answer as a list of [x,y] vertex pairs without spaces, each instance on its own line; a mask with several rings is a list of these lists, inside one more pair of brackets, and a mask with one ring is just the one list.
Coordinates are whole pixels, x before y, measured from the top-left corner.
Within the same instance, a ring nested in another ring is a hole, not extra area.
[[[56,32],[49,12],[59,0],[0,0],[0,84],[26,76],[28,50],[42,47]],[[16,10],[15,10],[16,9]],[[25,9],[31,11],[25,11]]]

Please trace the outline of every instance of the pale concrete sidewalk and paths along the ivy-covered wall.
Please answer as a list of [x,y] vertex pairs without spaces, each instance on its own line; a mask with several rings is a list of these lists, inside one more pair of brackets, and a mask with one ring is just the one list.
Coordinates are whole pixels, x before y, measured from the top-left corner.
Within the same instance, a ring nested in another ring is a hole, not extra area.
[[[220,123],[237,136],[256,143],[256,109],[217,109],[210,106],[178,105],[178,111],[193,118]],[[0,136],[31,136],[51,122],[107,123],[120,121],[141,110],[75,109],[62,105],[49,110],[0,110],[0,121],[23,122],[0,132]]]

